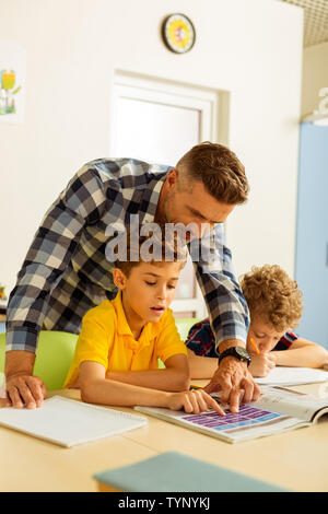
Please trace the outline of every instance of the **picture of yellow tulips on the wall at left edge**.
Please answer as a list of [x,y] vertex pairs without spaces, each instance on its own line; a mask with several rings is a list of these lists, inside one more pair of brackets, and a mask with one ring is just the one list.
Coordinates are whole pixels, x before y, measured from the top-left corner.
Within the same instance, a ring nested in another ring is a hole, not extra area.
[[26,50],[0,40],[0,122],[22,124],[25,110]]

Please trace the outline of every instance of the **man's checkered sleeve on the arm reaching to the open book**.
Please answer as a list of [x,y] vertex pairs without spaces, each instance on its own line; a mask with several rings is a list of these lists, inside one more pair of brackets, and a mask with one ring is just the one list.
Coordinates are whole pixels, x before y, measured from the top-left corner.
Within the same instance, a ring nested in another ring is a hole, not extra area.
[[198,261],[192,260],[215,335],[216,349],[227,339],[246,343],[249,312],[233,272],[231,250],[224,245],[223,223],[202,237]]

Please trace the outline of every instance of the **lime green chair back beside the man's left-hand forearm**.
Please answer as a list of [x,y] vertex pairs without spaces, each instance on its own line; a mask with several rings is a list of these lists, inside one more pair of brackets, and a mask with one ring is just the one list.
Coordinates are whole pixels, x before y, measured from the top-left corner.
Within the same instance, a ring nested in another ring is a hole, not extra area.
[[[33,374],[39,376],[48,390],[62,389],[71,365],[78,336],[42,330]],[[4,371],[5,334],[0,334],[0,373]]]

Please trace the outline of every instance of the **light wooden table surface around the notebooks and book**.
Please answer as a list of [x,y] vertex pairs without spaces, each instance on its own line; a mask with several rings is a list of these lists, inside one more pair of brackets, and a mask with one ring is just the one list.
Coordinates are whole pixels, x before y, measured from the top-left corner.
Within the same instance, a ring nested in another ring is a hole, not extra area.
[[[319,384],[297,386],[316,393]],[[77,389],[48,396],[80,399]],[[130,409],[119,409],[129,411]],[[149,418],[149,427],[62,448],[0,427],[0,491],[96,491],[92,476],[178,451],[294,491],[328,491],[328,422],[236,445]],[[5,470],[5,474],[4,474]]]

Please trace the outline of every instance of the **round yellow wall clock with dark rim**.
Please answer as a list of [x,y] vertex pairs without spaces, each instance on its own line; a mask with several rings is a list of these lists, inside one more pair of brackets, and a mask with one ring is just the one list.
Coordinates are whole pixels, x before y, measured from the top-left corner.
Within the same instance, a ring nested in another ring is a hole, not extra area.
[[195,43],[195,28],[184,14],[172,14],[166,17],[162,27],[163,39],[167,48],[176,54],[184,54]]

